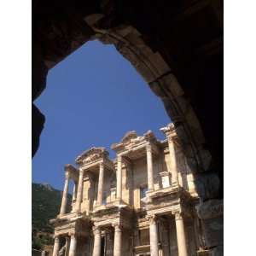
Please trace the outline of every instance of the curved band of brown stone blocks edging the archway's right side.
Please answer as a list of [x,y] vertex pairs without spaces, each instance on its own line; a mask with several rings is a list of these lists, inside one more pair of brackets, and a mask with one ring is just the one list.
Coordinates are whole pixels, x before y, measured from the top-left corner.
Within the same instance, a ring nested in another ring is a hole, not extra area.
[[[134,27],[119,26],[102,30],[94,26],[93,19],[89,17],[88,20],[96,32],[95,36],[90,39],[98,39],[102,44],[113,44],[142,75],[154,94],[160,97],[166,112],[176,126],[183,152],[195,177],[199,176],[200,172],[207,171],[212,160],[211,154],[203,148],[205,138],[201,125],[185,97],[182,86],[172,72],[172,67],[168,66],[159,52],[154,52],[143,42],[141,34]],[[216,175],[213,174],[213,176]],[[200,178],[197,179],[198,181],[203,182]],[[206,192],[202,191],[202,193]]]

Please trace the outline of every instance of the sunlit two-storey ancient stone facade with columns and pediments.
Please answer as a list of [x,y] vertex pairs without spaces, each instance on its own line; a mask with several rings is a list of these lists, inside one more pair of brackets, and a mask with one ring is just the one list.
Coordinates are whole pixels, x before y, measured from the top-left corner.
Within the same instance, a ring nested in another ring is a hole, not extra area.
[[[65,166],[61,212],[55,225],[57,256],[66,239],[65,255],[207,255],[194,177],[179,145],[174,125],[138,137],[125,134],[105,148],[90,148]],[[69,181],[73,180],[72,211],[67,212]],[[63,251],[63,247],[62,247]]]

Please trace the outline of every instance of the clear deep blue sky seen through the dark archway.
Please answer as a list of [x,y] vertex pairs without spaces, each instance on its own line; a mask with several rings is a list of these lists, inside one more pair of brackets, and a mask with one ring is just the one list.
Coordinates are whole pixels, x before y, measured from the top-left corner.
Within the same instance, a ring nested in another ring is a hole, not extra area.
[[49,71],[35,102],[46,122],[32,159],[32,182],[62,189],[64,166],[92,146],[108,148],[126,131],[151,130],[170,122],[163,103],[112,45],[91,41]]

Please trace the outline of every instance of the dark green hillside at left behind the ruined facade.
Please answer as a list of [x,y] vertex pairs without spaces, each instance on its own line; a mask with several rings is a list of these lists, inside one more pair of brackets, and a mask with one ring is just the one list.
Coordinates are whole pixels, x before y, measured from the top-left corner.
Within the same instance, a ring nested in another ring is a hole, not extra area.
[[[49,219],[55,218],[61,208],[62,191],[49,184],[32,183],[32,247],[41,249],[53,243],[53,227]],[[70,206],[72,196],[67,197]],[[67,211],[70,210],[70,207]]]

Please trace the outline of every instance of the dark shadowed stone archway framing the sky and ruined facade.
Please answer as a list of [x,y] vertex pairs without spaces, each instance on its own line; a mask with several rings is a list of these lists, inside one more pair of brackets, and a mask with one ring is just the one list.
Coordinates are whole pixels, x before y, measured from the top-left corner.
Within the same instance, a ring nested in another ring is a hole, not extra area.
[[[84,4],[89,9],[56,17],[42,16],[42,6],[51,3],[41,3],[40,11],[38,1],[33,11],[32,100],[44,90],[49,68],[80,45],[92,39],[113,44],[164,103],[195,175],[200,217],[208,221],[212,212],[211,218],[219,223],[223,214],[222,2],[188,1],[171,9],[163,7],[173,3],[164,2],[149,7],[131,1],[128,8],[126,1],[99,1],[100,7],[88,1]],[[44,115],[36,107],[32,111],[35,153]],[[207,232],[211,233],[206,224]],[[218,247],[222,242],[209,239],[208,245]]]

